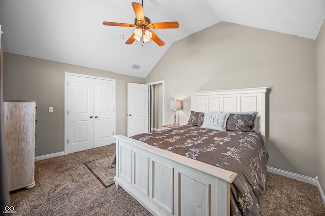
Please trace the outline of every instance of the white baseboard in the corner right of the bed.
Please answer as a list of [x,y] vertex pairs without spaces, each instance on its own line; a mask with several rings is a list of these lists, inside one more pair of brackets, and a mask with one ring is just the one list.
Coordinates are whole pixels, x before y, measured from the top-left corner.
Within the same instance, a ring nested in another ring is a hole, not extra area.
[[296,174],[296,173],[293,173],[293,172],[288,172],[288,171],[285,171],[285,170],[282,170],[282,169],[273,168],[273,167],[270,167],[270,166],[268,166],[267,171],[278,174],[278,175],[283,175],[283,176],[288,177],[288,178],[293,178],[293,179],[296,179],[296,180],[298,180],[300,182],[305,182],[305,183],[309,183],[309,184],[317,186],[320,197],[321,197],[321,199],[322,199],[322,201],[323,201],[323,203],[325,205],[325,194],[324,194],[324,191],[322,190],[322,188],[320,186],[320,183],[318,181],[318,176],[316,176],[315,178],[312,178],[312,177],[308,177],[308,176],[305,176],[305,175],[300,175],[300,174]]

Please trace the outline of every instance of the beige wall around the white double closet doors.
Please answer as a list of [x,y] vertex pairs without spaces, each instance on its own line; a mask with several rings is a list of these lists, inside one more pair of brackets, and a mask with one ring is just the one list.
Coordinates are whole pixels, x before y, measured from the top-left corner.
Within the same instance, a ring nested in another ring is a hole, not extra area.
[[[36,156],[64,151],[65,72],[116,79],[116,133],[127,134],[127,82],[143,78],[4,53],[4,99],[36,100]],[[48,107],[54,107],[54,113]]]

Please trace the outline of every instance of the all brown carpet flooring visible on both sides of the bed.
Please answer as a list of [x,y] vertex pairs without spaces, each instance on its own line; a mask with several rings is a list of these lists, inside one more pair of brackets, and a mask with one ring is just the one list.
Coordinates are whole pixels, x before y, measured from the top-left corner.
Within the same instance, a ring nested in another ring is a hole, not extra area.
[[[105,188],[84,165],[114,151],[109,145],[37,161],[36,186],[10,193],[14,215],[151,215],[122,188]],[[261,215],[325,215],[325,207],[316,186],[267,173]]]

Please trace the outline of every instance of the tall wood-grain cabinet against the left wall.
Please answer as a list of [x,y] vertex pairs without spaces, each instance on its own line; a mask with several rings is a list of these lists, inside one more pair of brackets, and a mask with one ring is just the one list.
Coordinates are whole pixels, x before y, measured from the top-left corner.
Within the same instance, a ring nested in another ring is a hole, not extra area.
[[35,101],[5,101],[4,123],[9,190],[35,186]]

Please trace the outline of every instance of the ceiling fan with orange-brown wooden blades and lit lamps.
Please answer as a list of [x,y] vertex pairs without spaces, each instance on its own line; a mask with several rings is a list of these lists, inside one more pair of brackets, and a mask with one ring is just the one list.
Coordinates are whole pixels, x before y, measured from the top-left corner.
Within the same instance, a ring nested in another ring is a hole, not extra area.
[[[118,23],[118,22],[103,22],[103,25],[109,26],[121,26],[121,27],[135,27],[134,33],[131,37],[125,42],[125,44],[132,44],[135,40],[140,41],[142,37],[142,42],[147,42],[152,39],[159,46],[164,46],[165,42],[161,40],[152,30],[149,29],[161,29],[161,28],[178,28],[178,22],[158,22],[151,23],[148,17],[144,16],[143,13],[143,1],[142,4],[133,2],[131,3],[136,18],[134,24],[127,23]],[[143,45],[142,45],[143,46]]]

